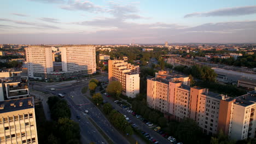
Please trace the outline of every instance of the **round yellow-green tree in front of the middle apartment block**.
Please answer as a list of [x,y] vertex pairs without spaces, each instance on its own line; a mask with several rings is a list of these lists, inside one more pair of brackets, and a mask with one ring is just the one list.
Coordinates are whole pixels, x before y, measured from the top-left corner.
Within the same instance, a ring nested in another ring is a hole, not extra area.
[[119,81],[112,81],[108,84],[106,92],[114,97],[119,97],[122,92],[122,85]]

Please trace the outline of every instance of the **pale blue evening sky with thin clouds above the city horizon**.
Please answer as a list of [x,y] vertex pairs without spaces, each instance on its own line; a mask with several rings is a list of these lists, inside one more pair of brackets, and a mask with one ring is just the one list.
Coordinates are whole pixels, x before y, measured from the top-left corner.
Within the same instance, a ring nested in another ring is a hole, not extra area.
[[1,44],[256,43],[255,0],[0,3]]

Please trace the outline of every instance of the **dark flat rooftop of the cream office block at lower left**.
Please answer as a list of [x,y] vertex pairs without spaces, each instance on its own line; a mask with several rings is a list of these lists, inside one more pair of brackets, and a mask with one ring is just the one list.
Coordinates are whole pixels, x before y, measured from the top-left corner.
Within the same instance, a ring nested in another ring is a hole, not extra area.
[[33,107],[33,97],[0,101],[0,113],[31,109]]

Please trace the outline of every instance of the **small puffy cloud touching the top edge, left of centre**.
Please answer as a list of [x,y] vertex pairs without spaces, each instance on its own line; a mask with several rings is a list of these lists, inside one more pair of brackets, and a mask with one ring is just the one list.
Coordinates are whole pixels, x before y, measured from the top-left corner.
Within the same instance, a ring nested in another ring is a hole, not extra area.
[[61,8],[66,10],[83,10],[93,13],[102,13],[103,11],[105,11],[105,9],[103,9],[101,6],[84,0],[68,1],[68,3],[62,5]]

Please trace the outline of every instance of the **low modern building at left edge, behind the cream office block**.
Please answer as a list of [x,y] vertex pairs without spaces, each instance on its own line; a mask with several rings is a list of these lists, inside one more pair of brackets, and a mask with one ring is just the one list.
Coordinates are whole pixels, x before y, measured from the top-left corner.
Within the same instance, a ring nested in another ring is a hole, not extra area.
[[28,97],[28,77],[22,71],[5,71],[0,73],[0,101]]

